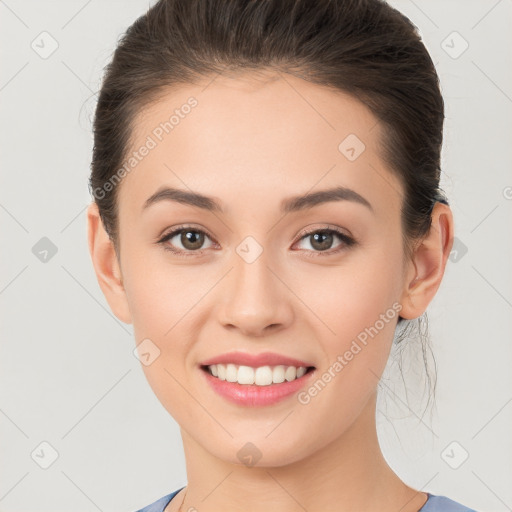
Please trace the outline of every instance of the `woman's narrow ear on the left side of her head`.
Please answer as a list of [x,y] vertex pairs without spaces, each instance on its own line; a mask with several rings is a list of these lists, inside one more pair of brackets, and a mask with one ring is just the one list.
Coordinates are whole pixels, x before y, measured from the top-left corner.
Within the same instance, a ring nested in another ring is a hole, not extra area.
[[121,267],[98,211],[96,202],[87,208],[89,253],[91,255],[98,284],[107,299],[110,309],[119,320],[131,323],[130,310],[123,287]]

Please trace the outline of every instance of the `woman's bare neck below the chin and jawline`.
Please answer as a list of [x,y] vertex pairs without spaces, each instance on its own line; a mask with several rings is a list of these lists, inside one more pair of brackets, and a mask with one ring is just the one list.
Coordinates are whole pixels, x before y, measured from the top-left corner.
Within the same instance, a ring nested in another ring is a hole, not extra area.
[[168,510],[178,510],[186,490],[184,512],[191,507],[201,512],[416,512],[427,496],[404,484],[386,463],[377,438],[375,407],[376,394],[333,442],[279,467],[221,460],[182,430],[188,485]]

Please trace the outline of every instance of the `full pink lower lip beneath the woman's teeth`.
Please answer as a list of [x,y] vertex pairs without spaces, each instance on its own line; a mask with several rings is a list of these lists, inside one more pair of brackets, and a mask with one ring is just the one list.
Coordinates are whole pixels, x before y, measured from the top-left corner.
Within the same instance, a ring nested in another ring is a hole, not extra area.
[[297,393],[306,385],[315,370],[310,370],[302,377],[285,381],[280,384],[270,384],[268,386],[257,386],[256,384],[238,384],[238,382],[228,382],[220,380],[211,375],[208,370],[201,369],[208,384],[219,395],[237,405],[256,407],[261,405],[272,405],[289,396]]

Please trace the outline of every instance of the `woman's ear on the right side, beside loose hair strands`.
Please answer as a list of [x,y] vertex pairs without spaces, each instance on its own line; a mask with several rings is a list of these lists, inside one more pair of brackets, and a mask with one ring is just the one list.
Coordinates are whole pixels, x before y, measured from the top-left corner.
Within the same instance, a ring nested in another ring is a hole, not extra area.
[[452,211],[448,205],[437,202],[432,210],[430,230],[415,248],[406,270],[402,318],[411,320],[425,312],[441,284],[452,245]]

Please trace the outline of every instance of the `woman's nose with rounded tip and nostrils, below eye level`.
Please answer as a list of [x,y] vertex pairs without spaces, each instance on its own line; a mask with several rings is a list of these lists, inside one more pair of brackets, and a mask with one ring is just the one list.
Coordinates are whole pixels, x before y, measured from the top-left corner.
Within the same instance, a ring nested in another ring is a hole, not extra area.
[[262,337],[293,321],[290,289],[285,276],[269,267],[265,251],[252,263],[234,255],[234,266],[222,290],[221,323],[241,334]]

